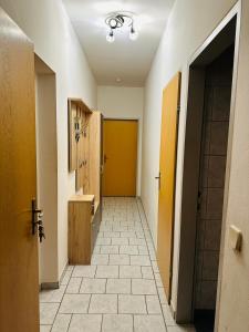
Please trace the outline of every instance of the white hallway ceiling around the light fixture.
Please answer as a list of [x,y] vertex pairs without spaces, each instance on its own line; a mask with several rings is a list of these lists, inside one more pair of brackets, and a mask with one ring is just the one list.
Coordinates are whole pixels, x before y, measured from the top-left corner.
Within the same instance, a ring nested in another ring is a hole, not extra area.
[[[100,85],[143,86],[158,48],[174,0],[63,0]],[[106,42],[108,13],[135,14],[139,38],[128,31]],[[117,83],[117,79],[121,82]]]

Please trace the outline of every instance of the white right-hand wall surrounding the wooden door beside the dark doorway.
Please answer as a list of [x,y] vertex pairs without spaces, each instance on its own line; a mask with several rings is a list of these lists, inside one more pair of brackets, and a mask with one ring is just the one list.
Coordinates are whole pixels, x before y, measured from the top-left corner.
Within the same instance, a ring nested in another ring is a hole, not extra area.
[[[246,1],[245,1],[246,2]],[[183,157],[186,123],[187,62],[205,39],[236,3],[236,0],[176,0],[168,24],[154,59],[145,87],[142,200],[157,242],[157,183],[159,169],[160,112],[163,87],[177,71],[183,73],[179,137],[176,178],[175,248],[173,271],[173,299],[175,309],[177,294],[177,269],[180,228],[180,200]],[[230,330],[231,331],[231,330]]]

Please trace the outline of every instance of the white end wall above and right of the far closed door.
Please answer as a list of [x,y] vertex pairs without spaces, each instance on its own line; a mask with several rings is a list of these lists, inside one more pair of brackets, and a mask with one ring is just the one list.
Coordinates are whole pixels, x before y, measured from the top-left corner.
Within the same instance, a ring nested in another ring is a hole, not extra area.
[[139,122],[138,158],[137,158],[137,196],[141,196],[144,89],[98,86],[97,108],[101,112],[103,112],[105,117],[136,118]]

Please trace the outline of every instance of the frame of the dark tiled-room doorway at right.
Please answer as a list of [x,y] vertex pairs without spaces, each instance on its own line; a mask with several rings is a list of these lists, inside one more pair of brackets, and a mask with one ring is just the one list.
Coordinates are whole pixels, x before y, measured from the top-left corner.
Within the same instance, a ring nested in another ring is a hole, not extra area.
[[[220,38],[225,29],[229,27],[229,23],[236,19],[235,27],[235,58],[234,58],[234,73],[232,73],[232,87],[231,87],[231,105],[230,105],[230,118],[229,118],[229,133],[228,133],[228,151],[227,151],[227,165],[226,165],[226,178],[225,178],[225,194],[224,194],[224,210],[222,210],[222,226],[221,226],[221,240],[220,240],[220,255],[219,255],[219,273],[218,273],[218,287],[217,287],[217,304],[216,304],[216,328],[218,326],[219,319],[219,305],[220,305],[220,284],[222,280],[222,264],[224,264],[224,242],[226,231],[227,219],[227,205],[230,180],[230,166],[231,166],[231,148],[234,136],[234,123],[235,123],[235,104],[237,92],[237,72],[238,72],[238,56],[239,56],[239,37],[241,24],[241,1],[238,1],[236,6],[229,11],[229,13],[222,19],[219,25],[212,31],[212,33],[206,39],[206,41],[197,49],[194,55],[187,63],[187,92],[186,92],[186,133],[185,133],[185,152],[184,152],[184,172],[183,172],[183,191],[180,203],[180,235],[179,235],[179,253],[178,253],[178,271],[177,271],[177,299],[176,299],[176,312],[175,318],[178,323],[193,322],[193,282],[194,282],[194,263],[195,263],[195,248],[196,248],[196,210],[197,210],[197,193],[198,193],[198,170],[200,144],[196,139],[196,136],[200,138],[201,129],[200,124],[203,122],[203,106],[204,106],[204,84],[205,84],[205,71],[199,69],[193,69],[195,62],[200,59],[200,55],[207,51],[214,42]],[[210,52],[209,58],[203,58],[203,66],[208,62],[211,62],[219,53],[225,44],[220,43],[214,45],[215,51]],[[201,65],[201,62],[199,63]],[[196,91],[193,90],[190,83],[194,84]],[[191,95],[190,95],[191,93]],[[189,108],[191,107],[191,112]],[[201,111],[200,111],[201,110]],[[195,126],[194,128],[191,126]],[[191,127],[191,129],[190,129]],[[191,159],[191,160],[190,160]],[[197,172],[193,172],[193,169]]]

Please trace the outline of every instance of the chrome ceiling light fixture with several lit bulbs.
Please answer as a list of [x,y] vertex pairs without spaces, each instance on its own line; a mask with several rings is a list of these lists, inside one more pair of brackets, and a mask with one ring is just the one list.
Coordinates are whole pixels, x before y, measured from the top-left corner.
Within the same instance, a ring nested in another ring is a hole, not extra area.
[[134,28],[134,15],[129,12],[114,12],[111,13],[106,20],[105,23],[110,28],[110,32],[106,35],[106,40],[110,43],[113,43],[115,41],[114,31],[116,29],[121,29],[124,27],[128,27],[129,29],[129,39],[135,41],[138,38],[138,32]]

